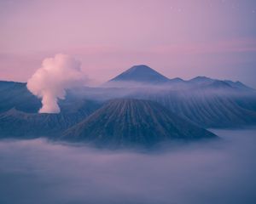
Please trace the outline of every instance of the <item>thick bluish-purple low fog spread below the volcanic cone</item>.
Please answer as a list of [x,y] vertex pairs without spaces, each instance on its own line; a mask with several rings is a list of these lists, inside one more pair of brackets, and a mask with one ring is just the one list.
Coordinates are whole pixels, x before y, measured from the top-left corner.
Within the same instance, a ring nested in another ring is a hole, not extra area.
[[0,203],[256,203],[256,129],[152,154],[0,141]]

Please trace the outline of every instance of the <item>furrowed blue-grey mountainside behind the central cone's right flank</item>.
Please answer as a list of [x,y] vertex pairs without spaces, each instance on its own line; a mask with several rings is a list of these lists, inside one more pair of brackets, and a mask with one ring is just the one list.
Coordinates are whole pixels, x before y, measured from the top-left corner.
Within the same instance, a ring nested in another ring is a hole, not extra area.
[[[229,89],[228,89],[229,90]],[[137,92],[130,97],[160,103],[201,127],[244,127],[256,124],[256,95],[207,88]],[[254,105],[254,106],[253,106]],[[253,110],[254,109],[254,110]]]

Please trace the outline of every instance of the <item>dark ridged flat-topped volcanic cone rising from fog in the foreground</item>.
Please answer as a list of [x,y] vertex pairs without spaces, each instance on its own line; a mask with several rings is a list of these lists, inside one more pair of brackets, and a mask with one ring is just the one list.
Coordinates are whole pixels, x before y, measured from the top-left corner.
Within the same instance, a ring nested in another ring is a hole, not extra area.
[[152,101],[113,99],[83,122],[67,129],[61,139],[121,147],[150,146],[170,139],[214,137],[213,133]]

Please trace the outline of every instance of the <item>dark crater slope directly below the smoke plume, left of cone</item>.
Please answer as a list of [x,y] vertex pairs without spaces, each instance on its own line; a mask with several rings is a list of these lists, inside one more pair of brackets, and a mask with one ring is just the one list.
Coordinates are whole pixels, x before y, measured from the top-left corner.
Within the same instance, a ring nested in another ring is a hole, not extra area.
[[0,137],[53,136],[84,120],[99,106],[96,102],[84,101],[84,105],[79,110],[60,114],[26,113],[13,108],[0,113]]

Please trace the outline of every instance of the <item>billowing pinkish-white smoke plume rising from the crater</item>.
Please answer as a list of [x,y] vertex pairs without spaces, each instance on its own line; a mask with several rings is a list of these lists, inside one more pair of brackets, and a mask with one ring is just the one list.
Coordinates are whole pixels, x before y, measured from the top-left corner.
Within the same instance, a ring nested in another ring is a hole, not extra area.
[[26,87],[32,94],[42,98],[40,113],[58,113],[58,99],[65,99],[66,89],[84,81],[80,62],[67,54],[56,54],[44,59],[39,68],[27,81]]

